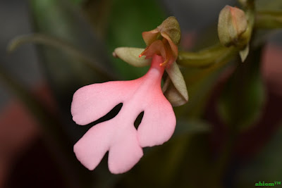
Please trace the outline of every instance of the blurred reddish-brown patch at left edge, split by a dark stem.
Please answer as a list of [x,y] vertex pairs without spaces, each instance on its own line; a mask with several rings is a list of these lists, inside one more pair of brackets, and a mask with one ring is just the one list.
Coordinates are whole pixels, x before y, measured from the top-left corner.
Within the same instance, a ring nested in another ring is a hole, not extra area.
[[[37,86],[35,96],[54,109],[55,103],[46,84]],[[0,113],[0,187],[4,186],[13,165],[39,137],[39,125],[18,99],[12,99]]]

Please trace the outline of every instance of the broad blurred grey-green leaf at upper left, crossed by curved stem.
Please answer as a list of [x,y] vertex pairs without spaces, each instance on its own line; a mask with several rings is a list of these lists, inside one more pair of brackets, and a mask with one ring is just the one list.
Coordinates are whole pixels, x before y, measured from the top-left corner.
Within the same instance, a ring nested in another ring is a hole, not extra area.
[[[92,54],[97,64],[104,66],[111,74],[109,56],[104,44],[94,36],[92,29],[85,22],[80,12],[69,1],[63,0],[30,0],[30,11],[35,31],[69,42],[85,54]],[[42,70],[47,75],[56,100],[59,102],[61,115],[66,120],[68,130],[73,137],[79,137],[82,129],[73,123],[70,108],[73,93],[85,84],[108,81],[85,66],[78,59],[65,51],[39,46],[39,60]],[[73,126],[70,126],[73,125]]]

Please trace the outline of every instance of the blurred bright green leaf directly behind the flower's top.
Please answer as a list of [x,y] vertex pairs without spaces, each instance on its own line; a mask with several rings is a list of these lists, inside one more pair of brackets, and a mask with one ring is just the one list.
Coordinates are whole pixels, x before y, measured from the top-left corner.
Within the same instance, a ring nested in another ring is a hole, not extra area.
[[[164,19],[160,1],[114,0],[111,6],[106,42],[109,52],[119,46],[145,48],[142,32],[153,30]],[[114,59],[114,58],[113,58]],[[145,74],[148,68],[134,68],[120,59],[114,59],[115,67],[126,80],[133,80]]]

